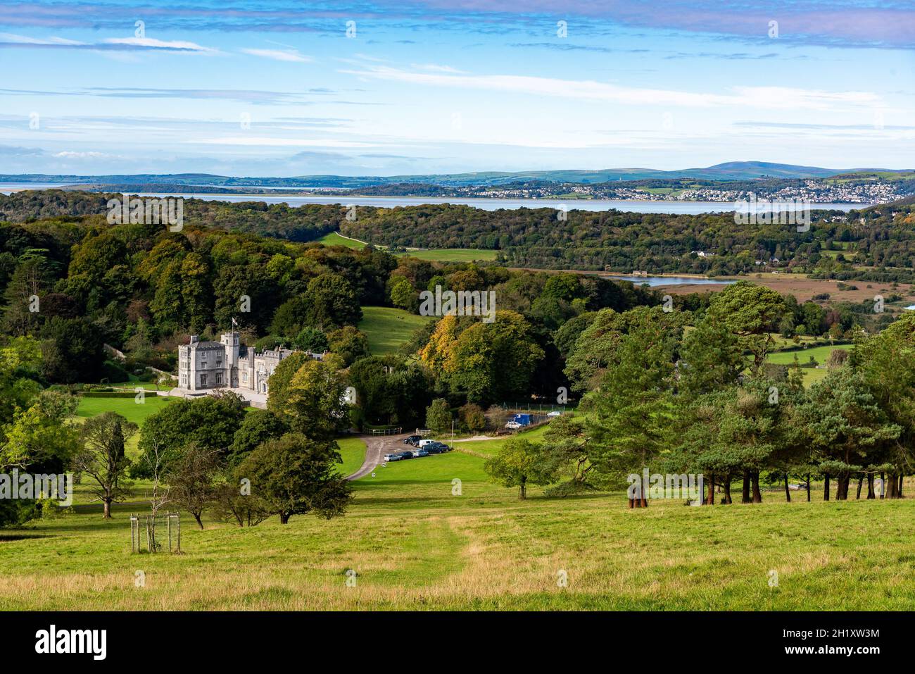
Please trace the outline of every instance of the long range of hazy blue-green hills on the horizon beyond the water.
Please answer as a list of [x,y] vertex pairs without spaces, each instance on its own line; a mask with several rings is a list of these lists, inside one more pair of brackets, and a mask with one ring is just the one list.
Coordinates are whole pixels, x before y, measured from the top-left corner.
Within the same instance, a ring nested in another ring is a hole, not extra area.
[[274,187],[274,188],[338,188],[358,189],[395,183],[423,183],[450,187],[491,185],[499,186],[525,180],[543,182],[568,182],[593,184],[613,180],[642,179],[705,179],[754,180],[827,178],[855,173],[897,173],[884,168],[819,168],[773,164],[765,161],[729,161],[707,168],[683,168],[663,171],[654,168],[606,168],[602,170],[549,170],[549,171],[484,171],[477,173],[436,173],[409,176],[295,176],[292,178],[238,178],[209,173],[138,174],[107,176],[76,176],[50,174],[0,174],[0,182],[50,182],[79,185],[194,185],[221,188]]

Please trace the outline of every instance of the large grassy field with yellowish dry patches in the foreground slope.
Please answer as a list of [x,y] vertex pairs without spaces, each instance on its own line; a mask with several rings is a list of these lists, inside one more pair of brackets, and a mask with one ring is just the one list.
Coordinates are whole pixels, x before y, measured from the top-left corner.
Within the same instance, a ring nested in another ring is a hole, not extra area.
[[[465,443],[469,444],[469,443]],[[687,507],[527,501],[460,451],[391,463],[346,516],[182,520],[181,556],[131,555],[126,513],[0,534],[0,609],[910,609],[915,500]],[[459,480],[460,482],[456,482]],[[458,491],[459,486],[459,491]],[[907,490],[911,487],[907,485]],[[355,587],[346,571],[357,572]],[[145,586],[135,585],[135,571]],[[567,587],[557,578],[565,571]],[[770,571],[779,583],[770,587]],[[861,583],[867,592],[860,592]]]

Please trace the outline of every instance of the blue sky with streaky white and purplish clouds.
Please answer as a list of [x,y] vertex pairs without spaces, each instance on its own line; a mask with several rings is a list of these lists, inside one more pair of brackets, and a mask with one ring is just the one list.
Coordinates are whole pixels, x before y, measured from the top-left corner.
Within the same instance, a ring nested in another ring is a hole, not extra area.
[[0,0],[0,173],[915,168],[912,0]]

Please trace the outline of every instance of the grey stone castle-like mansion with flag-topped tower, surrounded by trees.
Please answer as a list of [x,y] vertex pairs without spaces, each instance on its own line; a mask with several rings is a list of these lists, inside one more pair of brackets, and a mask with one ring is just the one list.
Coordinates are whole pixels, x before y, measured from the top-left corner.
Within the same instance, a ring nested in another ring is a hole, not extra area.
[[[213,388],[239,388],[267,395],[267,379],[276,365],[295,353],[290,349],[254,351],[239,342],[238,332],[225,332],[219,342],[200,342],[178,346],[178,387],[188,391]],[[311,356],[321,360],[320,353]]]

